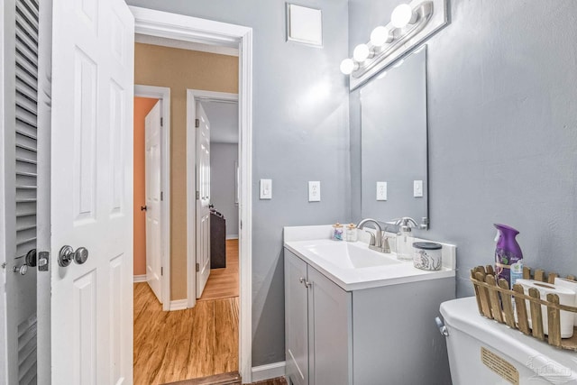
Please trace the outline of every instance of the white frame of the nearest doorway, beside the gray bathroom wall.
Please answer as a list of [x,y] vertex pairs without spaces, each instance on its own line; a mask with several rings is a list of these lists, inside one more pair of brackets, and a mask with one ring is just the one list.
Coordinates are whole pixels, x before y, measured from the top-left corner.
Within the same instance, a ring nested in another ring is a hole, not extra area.
[[134,32],[239,48],[239,372],[252,382],[252,28],[142,7],[129,7]]

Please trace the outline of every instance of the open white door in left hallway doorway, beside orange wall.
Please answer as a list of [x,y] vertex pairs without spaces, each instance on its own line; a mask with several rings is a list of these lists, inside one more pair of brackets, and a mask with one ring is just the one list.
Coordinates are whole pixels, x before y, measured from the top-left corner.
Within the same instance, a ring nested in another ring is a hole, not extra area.
[[144,118],[146,169],[146,281],[162,303],[160,262],[160,100]]

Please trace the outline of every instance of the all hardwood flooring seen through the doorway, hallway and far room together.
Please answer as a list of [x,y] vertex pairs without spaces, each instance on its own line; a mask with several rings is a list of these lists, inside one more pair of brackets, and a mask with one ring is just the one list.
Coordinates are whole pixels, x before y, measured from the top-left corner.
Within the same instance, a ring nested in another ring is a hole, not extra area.
[[135,385],[238,371],[237,240],[226,242],[226,257],[191,309],[163,312],[147,283],[134,284]]

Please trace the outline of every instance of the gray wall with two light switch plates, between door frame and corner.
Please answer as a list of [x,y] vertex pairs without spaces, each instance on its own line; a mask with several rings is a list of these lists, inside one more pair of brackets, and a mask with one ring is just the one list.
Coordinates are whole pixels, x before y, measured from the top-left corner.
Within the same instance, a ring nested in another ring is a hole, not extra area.
[[[348,3],[306,2],[323,11],[322,49],[286,42],[284,0],[127,3],[253,29],[252,365],[284,361],[282,227],[350,216],[348,88],[339,70]],[[259,200],[259,179],[272,179],[271,200]],[[321,202],[307,202],[308,180],[321,181]]]

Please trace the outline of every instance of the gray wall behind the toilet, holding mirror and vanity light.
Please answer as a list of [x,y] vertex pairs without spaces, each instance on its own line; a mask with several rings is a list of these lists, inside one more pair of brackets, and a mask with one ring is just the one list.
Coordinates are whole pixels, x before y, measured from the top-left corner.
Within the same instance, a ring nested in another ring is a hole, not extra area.
[[[350,0],[350,44],[397,3]],[[527,265],[577,274],[577,3],[451,3],[428,41],[431,230],[417,234],[457,245],[459,297],[493,261],[493,223],[520,231]]]

